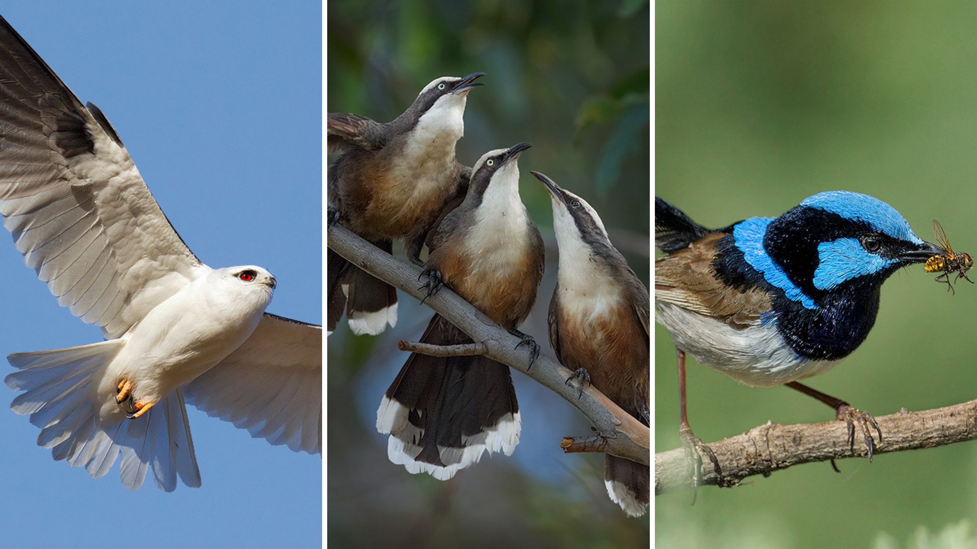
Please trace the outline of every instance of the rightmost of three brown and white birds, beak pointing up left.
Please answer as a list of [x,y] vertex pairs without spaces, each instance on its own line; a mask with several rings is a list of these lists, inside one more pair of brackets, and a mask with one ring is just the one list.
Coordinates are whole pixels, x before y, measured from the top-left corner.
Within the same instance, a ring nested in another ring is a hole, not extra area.
[[[549,190],[560,248],[549,308],[550,345],[574,377],[649,425],[648,288],[611,244],[586,200],[531,173]],[[604,482],[625,513],[645,514],[651,486],[647,465],[607,454]]]

